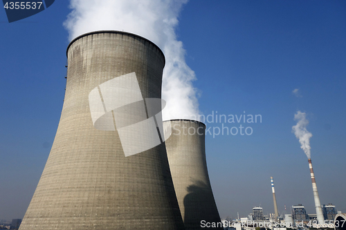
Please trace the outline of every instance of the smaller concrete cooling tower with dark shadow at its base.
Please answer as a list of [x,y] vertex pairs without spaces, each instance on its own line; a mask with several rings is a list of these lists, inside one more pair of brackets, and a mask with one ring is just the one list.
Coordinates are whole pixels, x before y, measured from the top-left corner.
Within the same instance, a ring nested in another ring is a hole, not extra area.
[[179,119],[163,122],[163,126],[172,127],[165,144],[185,229],[206,229],[201,227],[203,220],[221,222],[206,163],[206,125]]

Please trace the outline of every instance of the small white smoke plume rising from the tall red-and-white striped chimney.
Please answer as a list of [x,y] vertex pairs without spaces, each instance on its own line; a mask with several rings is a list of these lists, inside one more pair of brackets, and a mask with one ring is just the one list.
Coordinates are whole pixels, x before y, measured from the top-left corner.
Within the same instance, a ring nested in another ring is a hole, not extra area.
[[308,159],[311,159],[311,153],[310,153],[310,138],[312,137],[312,134],[307,131],[307,125],[309,124],[309,121],[307,120],[307,114],[302,113],[298,111],[294,115],[294,120],[297,121],[297,124],[292,127],[292,133],[295,134],[295,137],[298,138],[300,142],[300,148],[304,151],[304,153],[307,155]]

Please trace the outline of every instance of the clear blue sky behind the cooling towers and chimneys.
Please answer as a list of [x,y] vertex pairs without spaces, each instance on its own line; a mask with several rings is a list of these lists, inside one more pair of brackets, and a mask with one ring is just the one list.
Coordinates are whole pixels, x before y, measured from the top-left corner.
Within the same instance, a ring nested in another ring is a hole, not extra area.
[[[68,6],[55,1],[14,23],[0,10],[0,219],[24,217],[53,144],[66,84]],[[262,123],[242,124],[252,135],[206,137],[221,217],[258,205],[273,213],[271,176],[280,212],[301,203],[315,213],[307,157],[291,133],[297,111],[310,121],[320,200],[345,212],[346,2],[191,0],[176,34],[204,115],[262,115]]]

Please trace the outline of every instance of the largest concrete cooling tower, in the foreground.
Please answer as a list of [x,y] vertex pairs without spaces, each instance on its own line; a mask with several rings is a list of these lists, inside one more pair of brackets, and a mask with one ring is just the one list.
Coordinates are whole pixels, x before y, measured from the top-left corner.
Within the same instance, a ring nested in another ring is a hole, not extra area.
[[[20,229],[184,229],[165,144],[147,141],[158,138],[145,100],[161,99],[163,52],[98,31],[71,41],[67,57],[60,123]],[[134,128],[146,121],[153,133]]]

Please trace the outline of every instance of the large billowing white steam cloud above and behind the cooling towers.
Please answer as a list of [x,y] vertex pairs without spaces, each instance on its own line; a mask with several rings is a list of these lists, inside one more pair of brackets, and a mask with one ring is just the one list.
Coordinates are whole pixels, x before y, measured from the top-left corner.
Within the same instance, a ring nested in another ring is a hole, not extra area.
[[120,30],[153,41],[165,53],[162,97],[167,102],[163,119],[199,117],[194,71],[185,63],[183,43],[175,28],[188,0],[71,0],[72,12],[64,21],[69,39],[95,30]]

